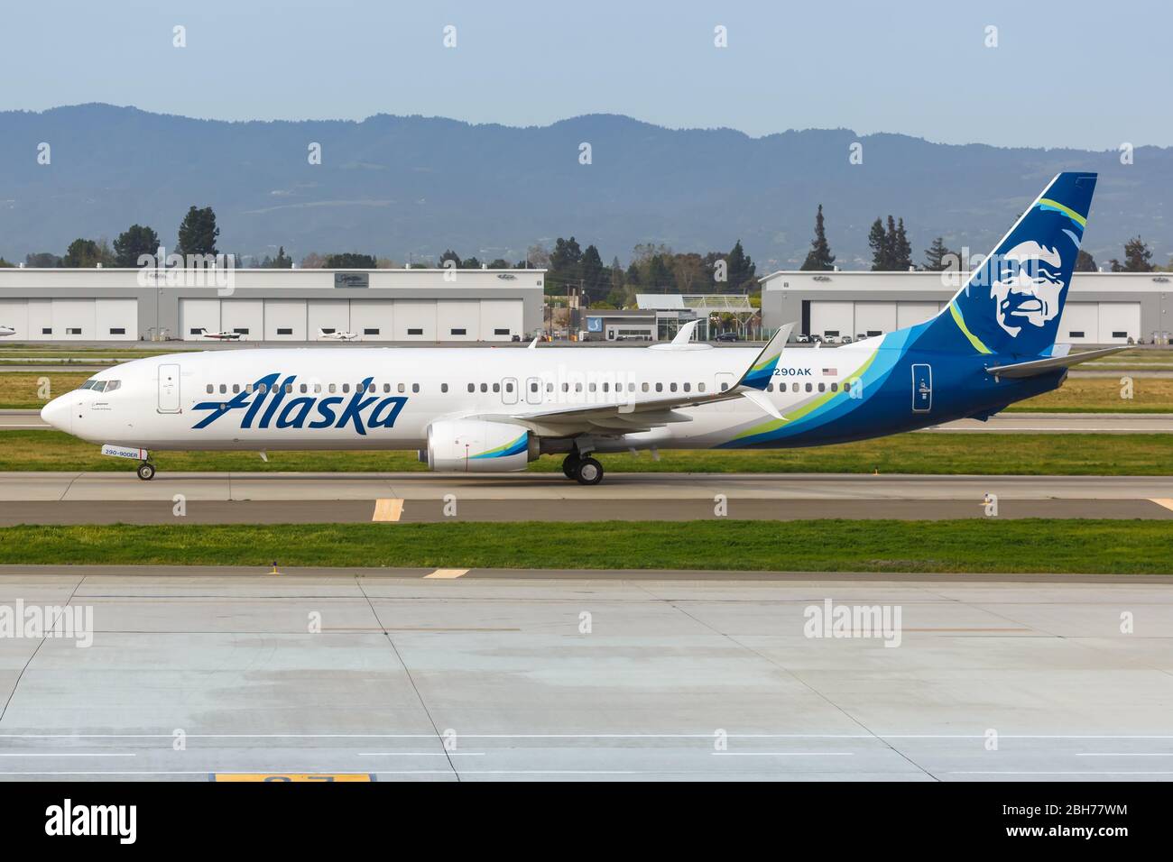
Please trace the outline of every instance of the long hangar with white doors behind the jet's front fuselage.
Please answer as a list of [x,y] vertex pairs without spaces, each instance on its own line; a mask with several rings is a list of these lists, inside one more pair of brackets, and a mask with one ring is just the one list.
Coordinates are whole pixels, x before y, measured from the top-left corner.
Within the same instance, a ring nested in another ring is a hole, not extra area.
[[510,341],[542,328],[544,270],[0,269],[14,341]]

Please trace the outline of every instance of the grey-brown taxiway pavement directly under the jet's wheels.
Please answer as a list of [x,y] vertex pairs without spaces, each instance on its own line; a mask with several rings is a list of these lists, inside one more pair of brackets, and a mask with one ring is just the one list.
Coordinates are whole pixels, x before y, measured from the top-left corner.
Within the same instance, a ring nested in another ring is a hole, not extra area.
[[0,473],[0,525],[988,517],[1173,520],[1169,476]]

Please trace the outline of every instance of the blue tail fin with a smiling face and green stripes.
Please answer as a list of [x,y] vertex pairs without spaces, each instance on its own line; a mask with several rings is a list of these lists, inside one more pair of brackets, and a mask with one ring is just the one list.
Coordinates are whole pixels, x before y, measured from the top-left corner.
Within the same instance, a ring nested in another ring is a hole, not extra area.
[[978,353],[1047,353],[1094,191],[1096,174],[1064,171],[1052,179],[929,330],[960,331],[961,342]]

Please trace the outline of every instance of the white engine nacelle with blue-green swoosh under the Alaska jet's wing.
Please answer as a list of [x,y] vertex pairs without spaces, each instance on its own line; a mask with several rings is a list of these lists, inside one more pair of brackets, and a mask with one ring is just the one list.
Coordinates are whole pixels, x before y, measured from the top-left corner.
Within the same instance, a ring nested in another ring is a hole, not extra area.
[[428,427],[430,470],[522,470],[537,455],[537,437],[520,425],[457,419],[433,422]]

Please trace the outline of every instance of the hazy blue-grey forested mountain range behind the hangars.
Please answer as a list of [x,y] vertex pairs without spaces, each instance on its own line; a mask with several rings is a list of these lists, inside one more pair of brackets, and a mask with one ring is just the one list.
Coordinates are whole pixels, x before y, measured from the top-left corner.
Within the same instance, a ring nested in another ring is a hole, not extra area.
[[[975,116],[975,135],[995,120]],[[860,164],[849,158],[855,143]],[[1117,150],[848,129],[750,137],[608,114],[513,128],[385,114],[226,122],[79,104],[0,113],[0,254],[61,254],[76,237],[113,240],[133,223],[170,250],[196,204],[215,209],[221,251],[245,260],[278,246],[294,260],[360,251],[402,264],[449,247],[520,260],[535,243],[574,235],[623,263],[638,243],[704,253],[740,239],[760,273],[801,264],[821,203],[836,263],[867,269],[877,216],[904,219],[916,260],[938,235],[985,252],[1051,176],[1079,169],[1100,172],[1085,236],[1097,262],[1121,257],[1139,235],[1154,263],[1167,263],[1173,148],[1137,147],[1123,161]]]

